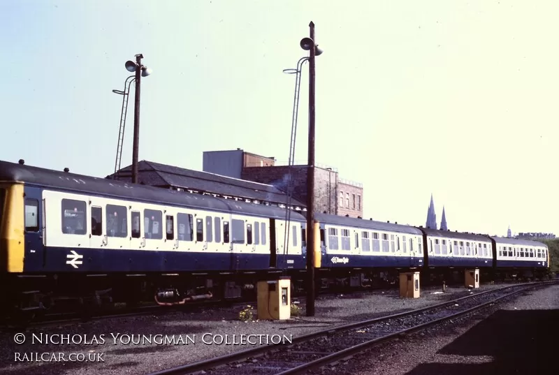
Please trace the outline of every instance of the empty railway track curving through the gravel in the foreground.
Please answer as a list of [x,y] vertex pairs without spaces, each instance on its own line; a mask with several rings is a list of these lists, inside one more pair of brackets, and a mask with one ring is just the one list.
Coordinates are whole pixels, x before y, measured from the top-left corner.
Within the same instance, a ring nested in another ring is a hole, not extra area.
[[264,344],[211,360],[203,360],[150,375],[305,374],[311,369],[347,360],[366,348],[477,311],[504,298],[558,281],[516,284],[296,337],[290,343]]

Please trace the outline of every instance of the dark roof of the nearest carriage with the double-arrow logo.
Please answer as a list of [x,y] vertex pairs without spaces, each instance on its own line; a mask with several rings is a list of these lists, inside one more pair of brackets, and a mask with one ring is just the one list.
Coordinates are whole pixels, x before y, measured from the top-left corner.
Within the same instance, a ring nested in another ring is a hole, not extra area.
[[[23,182],[24,184],[85,195],[97,194],[113,198],[141,200],[147,203],[182,205],[194,209],[212,209],[235,214],[253,214],[274,219],[285,219],[286,216],[286,210],[276,206],[245,203],[233,199],[130,184],[112,179],[25,166],[8,161],[0,161],[0,182]],[[291,220],[305,221],[305,216],[299,212],[291,212]]]

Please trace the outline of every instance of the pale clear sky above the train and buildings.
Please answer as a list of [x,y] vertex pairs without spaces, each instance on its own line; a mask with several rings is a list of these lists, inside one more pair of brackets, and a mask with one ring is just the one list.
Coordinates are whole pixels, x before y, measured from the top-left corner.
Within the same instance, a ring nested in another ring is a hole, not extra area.
[[[559,234],[557,1],[1,0],[0,159],[114,170],[124,62],[143,53],[140,160],[286,161],[299,41],[316,24],[319,163],[365,218]],[[296,159],[307,158],[307,66]],[[131,95],[131,99],[133,95]],[[131,163],[133,101],[122,165]]]

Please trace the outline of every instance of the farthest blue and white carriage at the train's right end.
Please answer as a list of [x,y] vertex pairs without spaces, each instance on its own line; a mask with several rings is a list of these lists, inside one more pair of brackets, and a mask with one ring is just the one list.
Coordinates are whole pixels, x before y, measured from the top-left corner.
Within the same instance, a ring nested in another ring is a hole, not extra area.
[[495,272],[498,277],[530,279],[549,268],[546,244],[507,237],[490,238],[495,249]]

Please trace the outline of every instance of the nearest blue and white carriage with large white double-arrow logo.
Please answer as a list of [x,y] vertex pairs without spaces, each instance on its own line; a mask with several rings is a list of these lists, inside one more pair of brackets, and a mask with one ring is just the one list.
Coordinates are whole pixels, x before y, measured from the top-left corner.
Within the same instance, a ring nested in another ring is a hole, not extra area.
[[235,297],[278,264],[305,268],[305,217],[291,213],[286,251],[285,225],[279,207],[0,161],[0,288],[18,303]]

